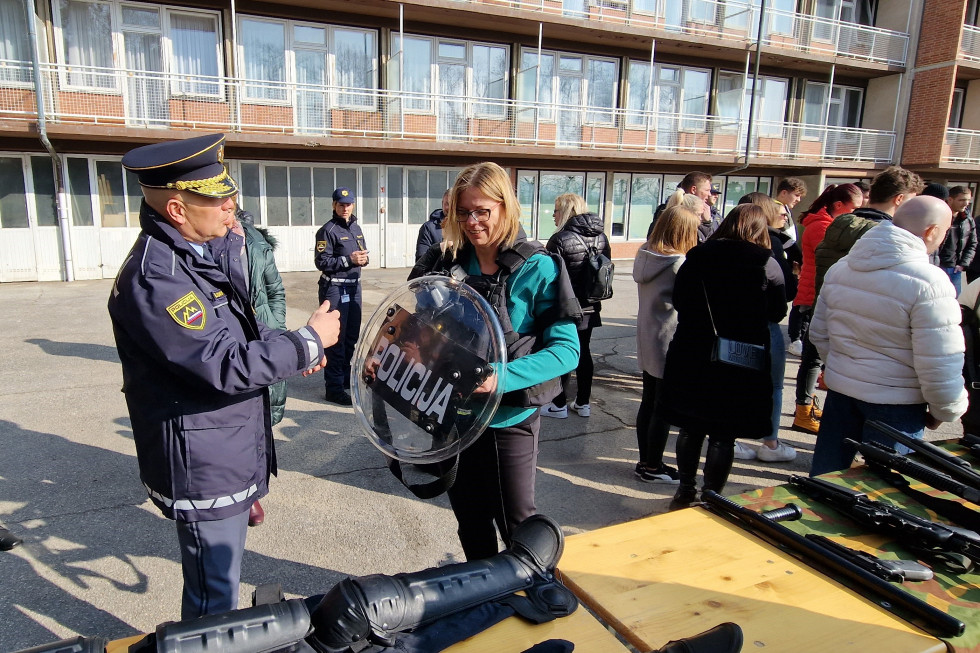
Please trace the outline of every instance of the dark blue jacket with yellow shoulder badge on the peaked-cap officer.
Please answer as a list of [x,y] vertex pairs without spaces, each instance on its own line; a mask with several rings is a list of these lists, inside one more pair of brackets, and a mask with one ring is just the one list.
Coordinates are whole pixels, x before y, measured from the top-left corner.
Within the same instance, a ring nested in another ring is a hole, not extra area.
[[255,319],[240,236],[213,240],[212,263],[145,203],[140,225],[109,297],[140,478],[166,517],[231,517],[277,471],[267,386],[323,350]]

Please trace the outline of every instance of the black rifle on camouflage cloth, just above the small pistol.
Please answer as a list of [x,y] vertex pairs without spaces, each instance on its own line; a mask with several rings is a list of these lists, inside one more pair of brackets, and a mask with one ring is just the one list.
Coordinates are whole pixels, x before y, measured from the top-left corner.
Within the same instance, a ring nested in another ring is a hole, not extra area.
[[974,562],[980,561],[980,535],[973,531],[929,521],[890,503],[869,499],[863,492],[821,478],[793,474],[789,482],[859,524],[893,536],[917,554],[944,561],[949,559],[949,554],[960,554]]

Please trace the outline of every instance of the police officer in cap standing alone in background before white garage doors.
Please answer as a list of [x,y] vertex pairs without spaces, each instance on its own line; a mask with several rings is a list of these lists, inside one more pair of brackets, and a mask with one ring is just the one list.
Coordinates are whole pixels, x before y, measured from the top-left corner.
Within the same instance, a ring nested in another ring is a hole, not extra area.
[[333,217],[316,232],[313,264],[320,274],[320,302],[340,311],[340,339],[327,349],[326,400],[350,406],[350,360],[361,331],[361,268],[368,264],[364,234],[354,215],[354,193],[333,192]]

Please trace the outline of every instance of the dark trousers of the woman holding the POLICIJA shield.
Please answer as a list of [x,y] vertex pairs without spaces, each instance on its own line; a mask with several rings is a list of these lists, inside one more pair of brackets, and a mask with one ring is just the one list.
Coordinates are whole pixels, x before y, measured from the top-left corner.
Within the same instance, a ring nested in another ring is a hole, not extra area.
[[541,413],[514,426],[487,429],[459,458],[449,503],[467,560],[495,555],[496,525],[505,545],[510,533],[535,514],[534,474]]

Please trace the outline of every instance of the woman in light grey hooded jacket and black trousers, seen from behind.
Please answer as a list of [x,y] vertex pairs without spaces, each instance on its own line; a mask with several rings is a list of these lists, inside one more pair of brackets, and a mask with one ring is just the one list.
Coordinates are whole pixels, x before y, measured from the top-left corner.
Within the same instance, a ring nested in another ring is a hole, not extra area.
[[666,209],[633,263],[633,280],[640,298],[636,352],[643,372],[643,398],[636,414],[640,462],[634,473],[647,483],[677,482],[677,470],[663,462],[670,424],[660,417],[656,403],[663,388],[667,346],[677,328],[674,278],[687,252],[698,244],[700,221],[696,213],[683,206]]

